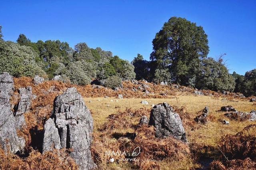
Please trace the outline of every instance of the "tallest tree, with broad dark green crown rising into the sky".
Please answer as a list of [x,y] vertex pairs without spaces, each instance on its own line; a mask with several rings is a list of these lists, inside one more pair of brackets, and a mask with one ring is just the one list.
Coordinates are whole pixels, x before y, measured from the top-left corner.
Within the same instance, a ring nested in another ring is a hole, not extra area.
[[150,59],[156,61],[155,67],[169,68],[174,81],[182,85],[189,85],[195,75],[194,65],[209,52],[202,26],[180,17],[172,17],[164,23],[152,43]]

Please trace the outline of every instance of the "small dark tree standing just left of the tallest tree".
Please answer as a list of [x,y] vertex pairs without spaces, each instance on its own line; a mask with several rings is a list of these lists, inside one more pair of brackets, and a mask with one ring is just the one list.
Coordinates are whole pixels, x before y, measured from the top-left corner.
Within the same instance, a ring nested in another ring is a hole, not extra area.
[[136,73],[137,80],[148,80],[148,61],[144,60],[142,55],[137,54],[137,57],[134,57],[132,60],[132,65],[134,65],[134,72]]

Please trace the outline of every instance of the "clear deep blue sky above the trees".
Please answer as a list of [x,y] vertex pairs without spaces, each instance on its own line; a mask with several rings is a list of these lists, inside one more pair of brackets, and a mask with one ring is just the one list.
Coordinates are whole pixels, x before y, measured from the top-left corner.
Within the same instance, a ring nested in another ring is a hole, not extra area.
[[208,56],[226,53],[230,73],[256,68],[256,0],[0,0],[4,40],[22,33],[32,42],[86,42],[129,61],[137,53],[149,59],[156,32],[172,16],[203,26]]

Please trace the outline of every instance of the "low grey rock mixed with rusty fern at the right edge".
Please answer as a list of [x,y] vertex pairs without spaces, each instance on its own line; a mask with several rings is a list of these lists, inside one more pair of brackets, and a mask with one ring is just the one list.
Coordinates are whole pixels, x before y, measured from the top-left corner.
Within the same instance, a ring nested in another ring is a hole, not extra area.
[[224,116],[230,119],[238,120],[238,121],[244,121],[244,120],[256,121],[256,111],[254,110],[252,110],[250,113],[234,111],[234,112],[226,113],[224,114]]

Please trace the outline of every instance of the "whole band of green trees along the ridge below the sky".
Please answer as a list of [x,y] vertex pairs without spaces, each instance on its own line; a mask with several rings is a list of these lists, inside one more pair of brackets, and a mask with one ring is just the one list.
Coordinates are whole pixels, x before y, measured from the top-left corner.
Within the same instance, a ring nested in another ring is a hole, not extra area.
[[[133,61],[123,60],[111,51],[78,43],[47,40],[31,42],[20,34],[17,43],[4,41],[0,27],[0,73],[20,76],[40,75],[80,85],[96,80],[116,88],[122,80],[145,79],[150,82],[177,83],[197,89],[235,91],[256,95],[256,69],[230,74],[223,61],[207,57],[208,38],[202,26],[185,18],[172,17],[156,33],[150,61],[138,54]],[[94,81],[95,82],[95,81]]]

